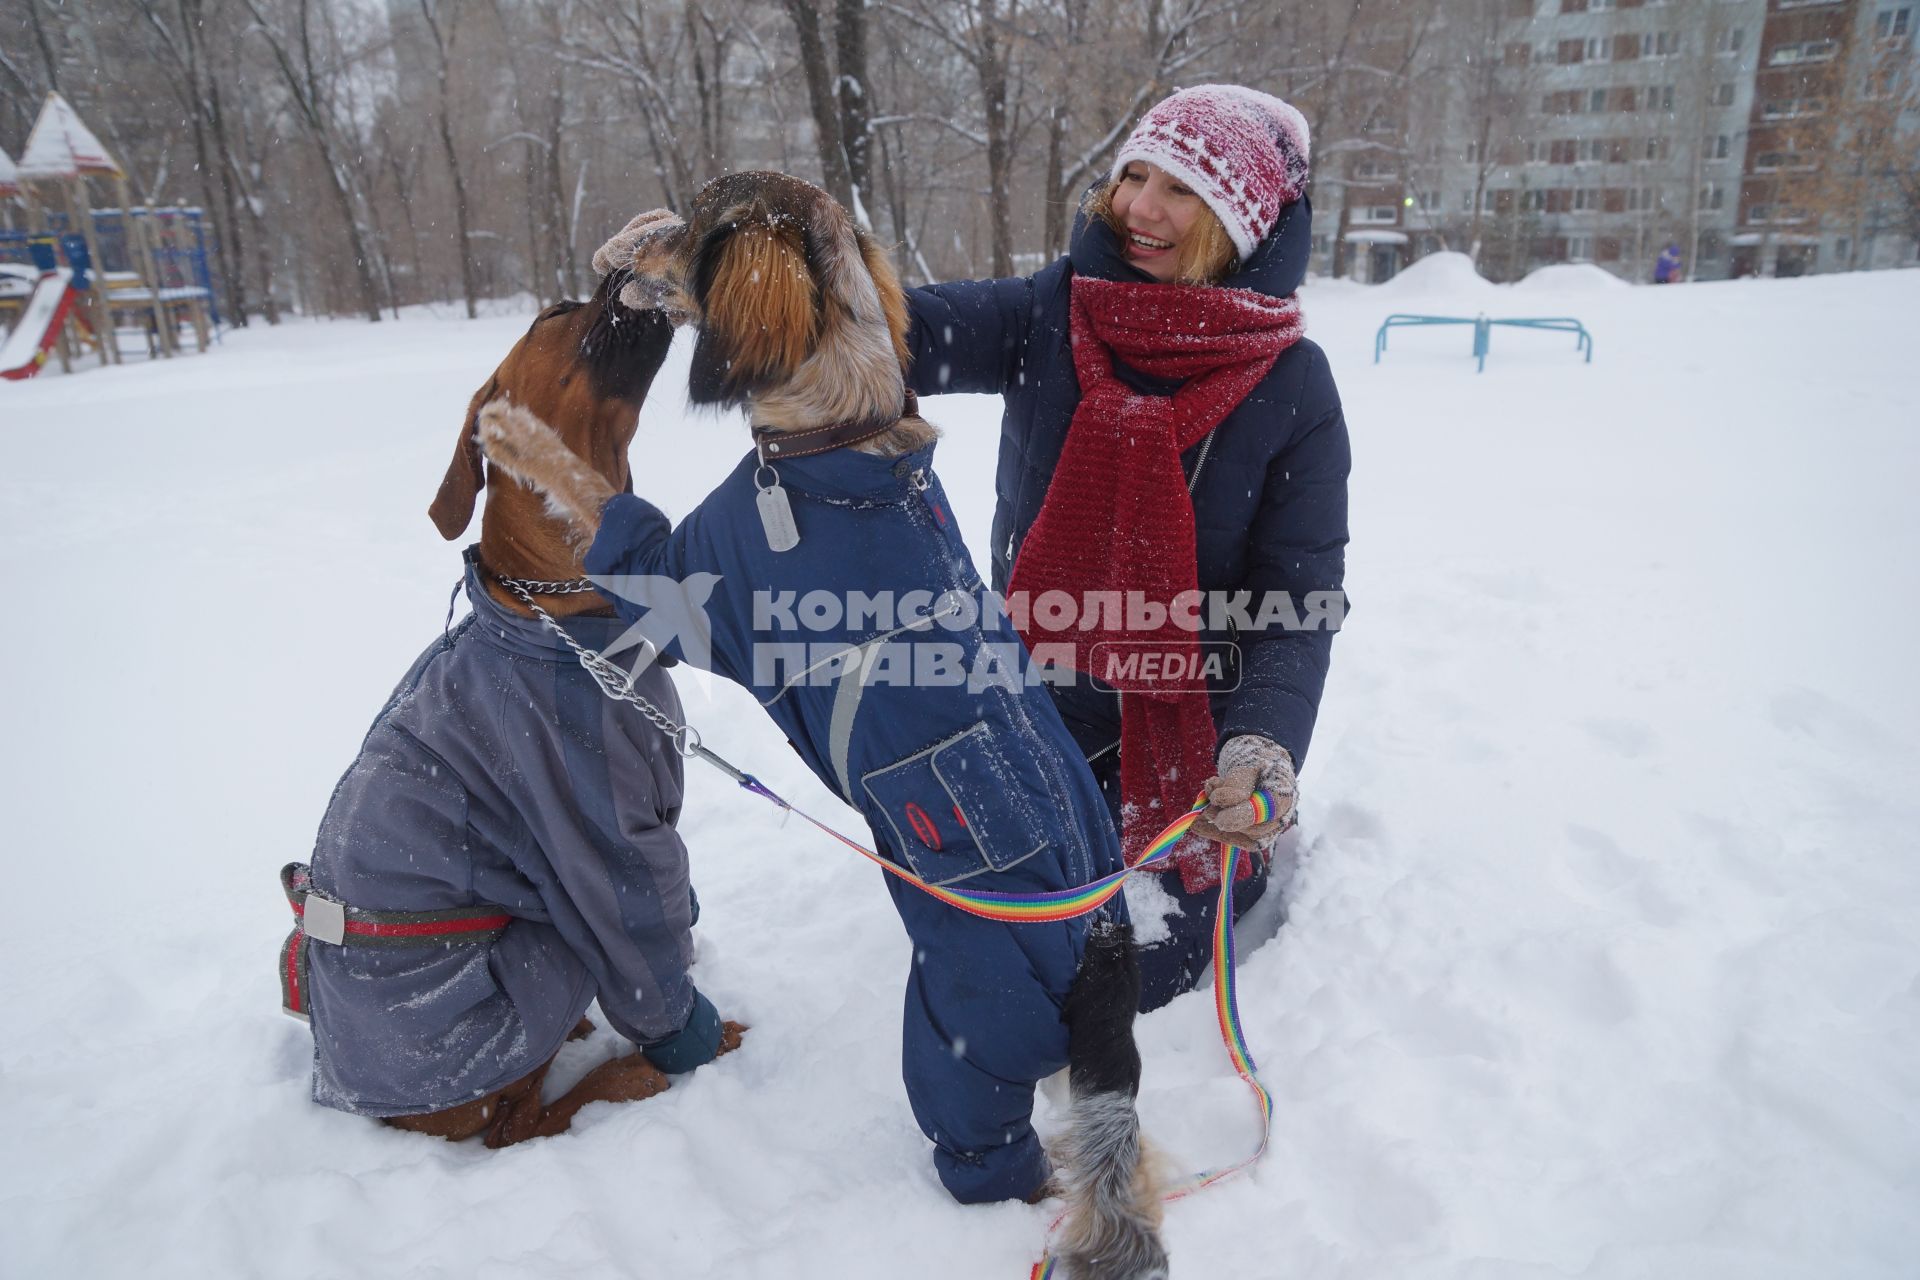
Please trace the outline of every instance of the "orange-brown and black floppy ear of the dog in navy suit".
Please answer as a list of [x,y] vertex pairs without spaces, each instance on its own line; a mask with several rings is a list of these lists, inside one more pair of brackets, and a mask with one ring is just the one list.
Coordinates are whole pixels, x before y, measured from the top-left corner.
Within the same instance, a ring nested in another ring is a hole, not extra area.
[[820,332],[820,286],[791,217],[755,201],[712,219],[687,282],[701,309],[687,370],[695,405],[739,405],[806,361]]

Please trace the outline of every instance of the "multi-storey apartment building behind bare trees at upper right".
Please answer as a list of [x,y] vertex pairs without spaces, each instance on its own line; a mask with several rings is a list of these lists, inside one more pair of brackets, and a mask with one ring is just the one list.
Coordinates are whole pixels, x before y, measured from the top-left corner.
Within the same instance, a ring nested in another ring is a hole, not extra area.
[[1897,211],[1860,213],[1859,182],[1812,190],[1834,161],[1809,161],[1851,155],[1868,129],[1826,104],[1859,100],[1868,65],[1887,83],[1916,19],[1920,0],[1442,6],[1404,102],[1377,111],[1405,121],[1400,152],[1363,134],[1338,201],[1315,192],[1315,267],[1382,280],[1467,249],[1496,280],[1559,261],[1647,280],[1668,246],[1699,280],[1891,265],[1912,253]]

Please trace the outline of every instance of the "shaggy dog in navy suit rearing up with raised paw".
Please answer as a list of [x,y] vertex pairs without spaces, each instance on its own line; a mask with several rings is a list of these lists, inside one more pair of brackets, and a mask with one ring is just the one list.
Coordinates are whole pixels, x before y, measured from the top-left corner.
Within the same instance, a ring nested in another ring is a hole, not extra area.
[[[710,652],[680,656],[753,689],[897,864],[998,892],[1117,869],[1106,804],[1050,695],[1025,679],[1018,635],[1004,612],[968,606],[985,589],[931,472],[935,432],[904,395],[906,307],[879,246],[816,186],[739,173],[701,190],[687,223],[643,215],[603,255],[603,269],[634,273],[630,305],[697,324],[691,399],[747,407],[756,451],[678,526],[522,407],[480,413],[488,459],[593,535],[586,568],[622,597],[622,616],[666,606],[622,583],[716,580]],[[902,604],[885,620],[795,620],[766,608],[783,591]],[[806,656],[781,660],[795,652]],[[981,676],[995,662],[1006,679]],[[952,670],[973,677],[939,676]],[[1069,1274],[1164,1276],[1123,902],[1012,925],[893,877],[889,890],[914,940],[906,1092],[948,1192],[1060,1188]],[[1060,1067],[1073,1103],[1056,1174],[1031,1109],[1035,1082]]]

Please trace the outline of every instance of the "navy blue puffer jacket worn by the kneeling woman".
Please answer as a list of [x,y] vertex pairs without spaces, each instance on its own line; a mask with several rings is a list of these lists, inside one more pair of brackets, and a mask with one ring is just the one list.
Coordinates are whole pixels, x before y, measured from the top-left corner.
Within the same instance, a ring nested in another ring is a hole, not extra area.
[[[1309,223],[1306,200],[1288,205],[1225,284],[1273,297],[1298,290],[1311,246]],[[906,294],[914,391],[1006,397],[993,516],[996,591],[1006,591],[1079,405],[1068,345],[1068,292],[1075,273],[1146,280],[1125,261],[1104,221],[1081,217],[1071,251],[1031,276],[933,284]],[[1123,365],[1117,370],[1140,391],[1173,390]],[[1286,591],[1302,614],[1309,614],[1309,593],[1342,591],[1346,418],[1327,355],[1313,342],[1288,347],[1240,407],[1181,461],[1190,480],[1198,470],[1192,503],[1202,591],[1252,591],[1256,601],[1267,591]],[[1286,747],[1296,764],[1304,762],[1327,681],[1331,629],[1269,626],[1202,639],[1238,641],[1236,670],[1212,685],[1219,741],[1260,733]],[[1116,693],[1087,679],[1052,689],[1081,750],[1092,756],[1119,741]]]

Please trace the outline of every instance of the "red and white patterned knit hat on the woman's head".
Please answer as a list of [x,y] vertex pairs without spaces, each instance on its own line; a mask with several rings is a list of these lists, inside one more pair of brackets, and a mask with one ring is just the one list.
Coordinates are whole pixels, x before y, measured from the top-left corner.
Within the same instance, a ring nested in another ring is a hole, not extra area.
[[1246,259],[1308,184],[1308,121],[1273,94],[1196,84],[1148,111],[1114,157],[1135,159],[1194,188]]

